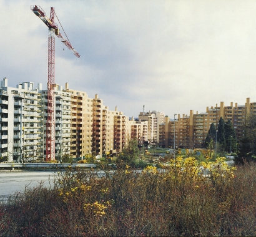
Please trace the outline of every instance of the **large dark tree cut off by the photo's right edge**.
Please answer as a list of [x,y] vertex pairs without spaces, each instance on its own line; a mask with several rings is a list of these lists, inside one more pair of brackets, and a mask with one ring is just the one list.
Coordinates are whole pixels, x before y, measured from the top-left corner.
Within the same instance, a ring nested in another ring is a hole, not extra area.
[[256,115],[249,114],[242,125],[243,137],[239,140],[239,148],[235,163],[244,161],[256,162]]

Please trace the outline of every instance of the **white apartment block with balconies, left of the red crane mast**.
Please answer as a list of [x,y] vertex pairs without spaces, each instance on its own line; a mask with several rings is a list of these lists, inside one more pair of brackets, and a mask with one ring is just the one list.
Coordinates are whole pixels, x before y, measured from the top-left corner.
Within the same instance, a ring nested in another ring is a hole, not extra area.
[[0,89],[0,156],[2,161],[26,162],[42,158],[41,153],[41,87],[22,82],[8,87],[7,79]]

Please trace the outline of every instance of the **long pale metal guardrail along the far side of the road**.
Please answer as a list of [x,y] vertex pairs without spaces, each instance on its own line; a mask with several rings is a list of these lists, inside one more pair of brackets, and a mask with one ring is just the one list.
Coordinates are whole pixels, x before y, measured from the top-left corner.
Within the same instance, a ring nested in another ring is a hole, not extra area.
[[70,164],[70,163],[1,163],[0,168],[37,168],[37,167],[47,167],[47,168],[66,168],[66,167],[87,167],[87,168],[94,168],[97,167],[96,164]]

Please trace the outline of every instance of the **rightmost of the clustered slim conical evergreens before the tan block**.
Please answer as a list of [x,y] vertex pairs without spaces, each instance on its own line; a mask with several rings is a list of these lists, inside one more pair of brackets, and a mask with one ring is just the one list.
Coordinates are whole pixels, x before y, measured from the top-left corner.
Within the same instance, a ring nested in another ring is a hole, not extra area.
[[235,129],[232,125],[232,122],[230,120],[227,121],[224,125],[225,128],[225,142],[226,152],[230,153],[230,144],[231,144],[231,151],[236,152],[237,151],[237,136],[235,135]]

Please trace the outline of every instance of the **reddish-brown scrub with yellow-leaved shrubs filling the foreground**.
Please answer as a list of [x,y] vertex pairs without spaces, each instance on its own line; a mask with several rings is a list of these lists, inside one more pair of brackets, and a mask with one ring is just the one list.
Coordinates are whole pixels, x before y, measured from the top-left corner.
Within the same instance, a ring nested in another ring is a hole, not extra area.
[[[0,206],[1,236],[255,236],[256,165],[197,173],[194,160],[59,172]],[[239,188],[238,188],[239,187]]]

